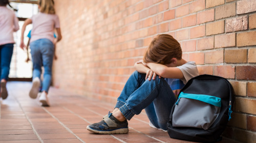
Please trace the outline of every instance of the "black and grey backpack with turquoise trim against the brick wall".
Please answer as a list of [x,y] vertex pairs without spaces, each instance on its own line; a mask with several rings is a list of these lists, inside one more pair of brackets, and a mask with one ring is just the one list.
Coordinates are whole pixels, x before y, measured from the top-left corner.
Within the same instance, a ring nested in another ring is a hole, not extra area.
[[216,142],[231,118],[233,88],[225,78],[200,75],[181,89],[170,113],[167,131],[171,138]]

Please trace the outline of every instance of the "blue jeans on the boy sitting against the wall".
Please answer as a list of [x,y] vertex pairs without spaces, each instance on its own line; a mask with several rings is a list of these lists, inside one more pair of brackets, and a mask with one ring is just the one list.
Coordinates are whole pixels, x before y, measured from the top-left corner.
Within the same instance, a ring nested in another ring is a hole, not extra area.
[[145,109],[155,127],[167,130],[170,110],[176,100],[174,93],[164,78],[157,76],[155,80],[148,81],[145,76],[134,71],[118,97],[115,108],[119,108],[127,120]]

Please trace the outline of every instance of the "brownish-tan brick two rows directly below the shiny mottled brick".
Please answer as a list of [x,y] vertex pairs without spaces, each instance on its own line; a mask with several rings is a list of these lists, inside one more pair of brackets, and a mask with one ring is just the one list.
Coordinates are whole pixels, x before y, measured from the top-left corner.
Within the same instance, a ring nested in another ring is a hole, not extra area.
[[225,62],[226,63],[246,63],[247,62],[247,50],[225,50]]

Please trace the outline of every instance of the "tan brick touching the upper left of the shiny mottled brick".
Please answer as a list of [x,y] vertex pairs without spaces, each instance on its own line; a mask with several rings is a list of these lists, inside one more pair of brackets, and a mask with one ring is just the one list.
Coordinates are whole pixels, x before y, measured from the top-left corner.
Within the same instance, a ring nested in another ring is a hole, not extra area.
[[222,19],[236,15],[236,3],[226,4],[215,9],[215,19]]

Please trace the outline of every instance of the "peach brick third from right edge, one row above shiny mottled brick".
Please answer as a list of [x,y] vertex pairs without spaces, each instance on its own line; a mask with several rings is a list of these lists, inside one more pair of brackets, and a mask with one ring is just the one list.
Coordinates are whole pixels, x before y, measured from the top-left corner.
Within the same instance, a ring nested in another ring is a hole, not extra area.
[[197,13],[197,25],[214,20],[214,9]]

